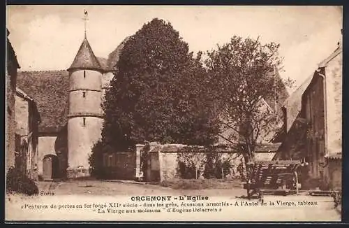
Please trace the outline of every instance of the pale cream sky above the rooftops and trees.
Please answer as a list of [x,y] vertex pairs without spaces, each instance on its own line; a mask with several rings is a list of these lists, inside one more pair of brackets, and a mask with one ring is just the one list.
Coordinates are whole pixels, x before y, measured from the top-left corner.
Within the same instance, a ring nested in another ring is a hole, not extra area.
[[193,52],[234,35],[280,44],[282,78],[301,85],[342,40],[341,6],[7,6],[7,28],[21,71],[65,70],[84,38],[107,57],[154,17],[172,24]]

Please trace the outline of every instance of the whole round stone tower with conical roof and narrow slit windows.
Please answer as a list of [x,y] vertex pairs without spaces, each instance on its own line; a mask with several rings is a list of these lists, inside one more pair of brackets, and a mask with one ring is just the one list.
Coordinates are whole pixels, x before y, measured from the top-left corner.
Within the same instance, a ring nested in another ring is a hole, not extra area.
[[89,155],[101,138],[101,77],[103,69],[84,41],[68,69],[70,76],[68,115],[68,178],[89,176]]

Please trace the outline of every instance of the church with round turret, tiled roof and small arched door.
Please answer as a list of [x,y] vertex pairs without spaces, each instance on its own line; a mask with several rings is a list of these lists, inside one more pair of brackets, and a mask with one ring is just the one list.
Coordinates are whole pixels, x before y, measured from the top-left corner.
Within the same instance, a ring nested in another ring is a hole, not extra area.
[[87,40],[61,71],[20,71],[17,85],[38,106],[38,175],[42,180],[89,176],[89,154],[101,138],[105,90],[123,41],[107,59],[96,57]]

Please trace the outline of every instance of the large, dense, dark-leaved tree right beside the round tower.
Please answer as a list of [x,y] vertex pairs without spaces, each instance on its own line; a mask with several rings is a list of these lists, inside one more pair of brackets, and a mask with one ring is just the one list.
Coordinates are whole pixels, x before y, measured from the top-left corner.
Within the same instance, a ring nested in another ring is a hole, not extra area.
[[126,41],[106,92],[102,140],[115,150],[135,143],[211,144],[218,122],[207,99],[201,53],[157,18]]

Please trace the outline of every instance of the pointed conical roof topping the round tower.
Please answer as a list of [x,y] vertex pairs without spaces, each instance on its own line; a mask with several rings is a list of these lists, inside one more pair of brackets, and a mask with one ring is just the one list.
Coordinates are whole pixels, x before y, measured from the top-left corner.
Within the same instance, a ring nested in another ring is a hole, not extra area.
[[89,45],[89,41],[87,41],[86,36],[84,37],[84,41],[82,41],[82,44],[80,45],[75,59],[70,65],[68,71],[73,69],[102,69],[96,55],[94,55],[91,45]]

